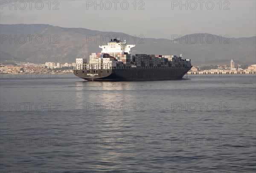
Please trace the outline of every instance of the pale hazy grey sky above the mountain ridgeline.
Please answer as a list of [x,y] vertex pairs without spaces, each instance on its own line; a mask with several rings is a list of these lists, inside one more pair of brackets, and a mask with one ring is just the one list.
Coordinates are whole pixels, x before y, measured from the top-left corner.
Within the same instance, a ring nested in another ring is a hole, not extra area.
[[0,23],[43,23],[168,39],[172,39],[172,35],[194,33],[236,38],[256,36],[255,0],[189,0],[181,3],[180,0],[110,0],[97,1],[99,6],[96,6],[94,0],[50,3],[49,0],[24,0],[12,1],[10,5],[9,0],[1,0]]

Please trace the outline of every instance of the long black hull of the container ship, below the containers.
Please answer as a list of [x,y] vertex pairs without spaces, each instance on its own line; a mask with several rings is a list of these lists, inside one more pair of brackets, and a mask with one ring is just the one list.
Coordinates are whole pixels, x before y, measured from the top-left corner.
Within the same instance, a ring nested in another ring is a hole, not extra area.
[[181,79],[190,69],[191,67],[74,70],[74,74],[87,81],[175,80]]

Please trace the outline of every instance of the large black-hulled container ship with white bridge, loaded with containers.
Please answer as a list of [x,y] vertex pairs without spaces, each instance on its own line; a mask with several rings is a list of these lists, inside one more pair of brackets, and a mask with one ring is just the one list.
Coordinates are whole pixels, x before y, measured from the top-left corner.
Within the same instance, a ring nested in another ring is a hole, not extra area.
[[120,39],[99,45],[101,53],[77,58],[74,74],[87,81],[143,81],[181,79],[191,68],[190,59],[176,55],[132,55],[131,48]]

